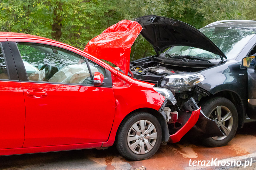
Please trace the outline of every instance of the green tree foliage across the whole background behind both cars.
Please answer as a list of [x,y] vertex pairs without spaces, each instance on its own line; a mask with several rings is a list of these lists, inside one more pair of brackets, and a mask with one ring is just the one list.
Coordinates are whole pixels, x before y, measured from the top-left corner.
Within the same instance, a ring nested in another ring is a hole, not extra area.
[[[0,0],[0,9],[0,31],[39,35],[82,50],[107,27],[143,15],[161,15],[196,28],[217,20],[256,20],[255,0]],[[152,54],[140,36],[134,59]]]

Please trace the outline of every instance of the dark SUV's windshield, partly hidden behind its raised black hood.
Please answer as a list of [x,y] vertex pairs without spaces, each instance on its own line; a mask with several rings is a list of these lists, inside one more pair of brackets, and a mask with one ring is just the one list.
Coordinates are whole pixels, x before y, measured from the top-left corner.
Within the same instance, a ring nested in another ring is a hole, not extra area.
[[[200,31],[206,35],[227,56],[235,58],[247,42],[256,34],[255,30],[234,27],[204,27]],[[173,46],[164,54],[170,56],[196,56],[207,60],[219,60],[220,56],[209,51],[190,47]]]

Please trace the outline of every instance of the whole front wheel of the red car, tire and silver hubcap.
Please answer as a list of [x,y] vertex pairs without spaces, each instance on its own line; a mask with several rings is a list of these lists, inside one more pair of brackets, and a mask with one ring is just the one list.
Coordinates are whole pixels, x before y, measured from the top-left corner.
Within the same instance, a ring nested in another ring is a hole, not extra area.
[[[141,128],[142,126],[144,128]],[[138,161],[153,156],[161,140],[162,129],[156,117],[147,112],[137,112],[123,121],[117,132],[115,144],[122,156]]]

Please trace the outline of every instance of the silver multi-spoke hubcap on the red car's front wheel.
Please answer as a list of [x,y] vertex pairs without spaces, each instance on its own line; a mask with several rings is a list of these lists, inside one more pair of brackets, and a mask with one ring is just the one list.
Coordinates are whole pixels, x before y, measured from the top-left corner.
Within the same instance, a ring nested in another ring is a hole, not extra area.
[[148,120],[139,120],[128,131],[127,143],[133,153],[148,153],[155,145],[157,132],[155,126]]

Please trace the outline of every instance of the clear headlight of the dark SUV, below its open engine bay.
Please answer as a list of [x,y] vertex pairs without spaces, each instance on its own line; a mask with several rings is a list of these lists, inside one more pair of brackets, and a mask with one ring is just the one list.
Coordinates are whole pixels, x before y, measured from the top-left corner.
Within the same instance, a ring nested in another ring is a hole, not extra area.
[[205,77],[202,73],[181,72],[164,77],[161,87],[170,88],[177,93],[181,93],[185,90],[191,90],[192,87],[203,80],[205,80]]

